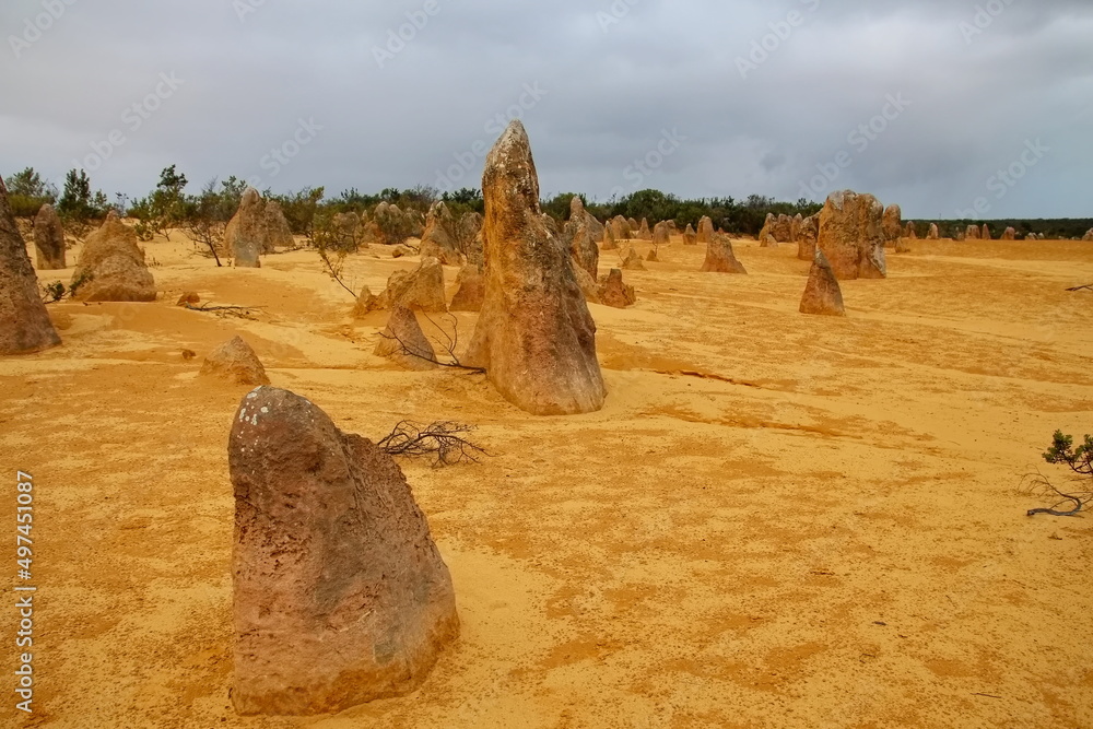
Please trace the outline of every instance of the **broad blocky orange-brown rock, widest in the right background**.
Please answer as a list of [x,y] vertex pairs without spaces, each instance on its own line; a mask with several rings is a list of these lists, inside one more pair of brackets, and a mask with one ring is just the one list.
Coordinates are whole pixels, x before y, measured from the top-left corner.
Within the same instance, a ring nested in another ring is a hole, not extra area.
[[888,274],[881,217],[884,208],[871,195],[839,190],[820,211],[818,247],[842,280],[882,279]]

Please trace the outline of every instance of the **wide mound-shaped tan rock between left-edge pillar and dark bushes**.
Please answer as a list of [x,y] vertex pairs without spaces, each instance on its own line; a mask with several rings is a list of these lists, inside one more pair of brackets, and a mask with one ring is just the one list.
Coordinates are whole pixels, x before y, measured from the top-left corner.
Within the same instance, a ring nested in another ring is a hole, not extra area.
[[72,287],[75,298],[83,302],[155,301],[155,279],[144,263],[137,233],[114,211],[84,240]]

